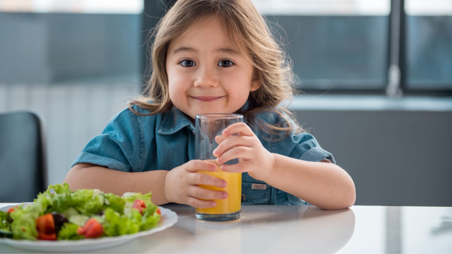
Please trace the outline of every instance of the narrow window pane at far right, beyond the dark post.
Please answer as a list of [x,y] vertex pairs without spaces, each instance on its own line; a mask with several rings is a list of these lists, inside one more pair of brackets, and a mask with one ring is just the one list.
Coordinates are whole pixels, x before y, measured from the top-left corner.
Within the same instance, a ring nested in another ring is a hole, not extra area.
[[406,0],[409,90],[452,89],[452,1]]

